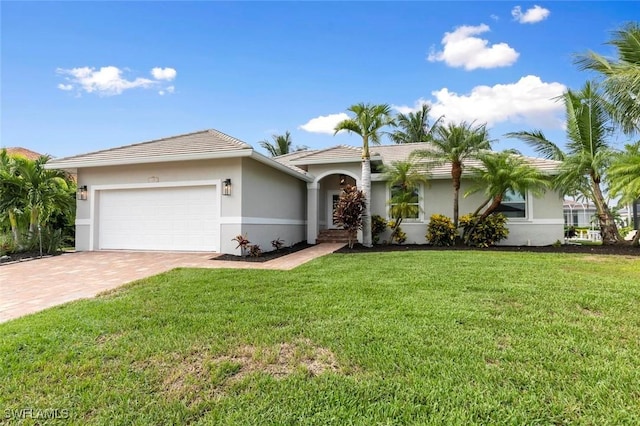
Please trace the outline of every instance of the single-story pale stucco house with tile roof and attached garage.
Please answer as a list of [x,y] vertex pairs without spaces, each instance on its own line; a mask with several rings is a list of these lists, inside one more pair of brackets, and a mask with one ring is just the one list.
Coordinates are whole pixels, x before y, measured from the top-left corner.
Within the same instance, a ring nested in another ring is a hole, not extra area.
[[[388,217],[390,189],[383,164],[406,159],[422,144],[371,149],[372,213]],[[531,159],[552,173],[557,164]],[[336,146],[276,158],[216,130],[205,130],[74,157],[51,160],[47,167],[77,171],[78,250],[188,250],[235,253],[239,234],[263,250],[281,238],[287,244],[316,242],[332,228],[333,204],[341,185],[360,184],[361,150]],[[469,185],[463,180],[462,193]],[[481,194],[463,198],[460,212],[475,210]],[[420,188],[418,217],[403,222],[407,243],[426,243],[434,213],[452,215],[452,188],[446,167],[432,171]],[[549,191],[505,203],[509,245],[546,245],[563,237],[562,199]],[[383,236],[384,239],[384,236]]]

